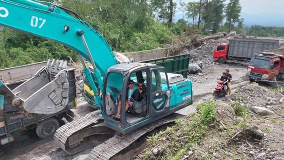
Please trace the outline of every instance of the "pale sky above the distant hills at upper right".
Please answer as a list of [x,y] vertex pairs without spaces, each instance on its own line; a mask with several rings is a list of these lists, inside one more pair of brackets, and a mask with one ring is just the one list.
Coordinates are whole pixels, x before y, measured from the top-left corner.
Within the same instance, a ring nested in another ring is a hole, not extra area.
[[[179,2],[179,0],[173,0],[174,2]],[[182,0],[186,3],[189,1],[199,1],[199,0]],[[228,0],[226,0],[228,1]],[[241,12],[248,14],[282,14],[284,7],[284,0],[240,0],[242,7]],[[178,8],[178,6],[177,6]]]

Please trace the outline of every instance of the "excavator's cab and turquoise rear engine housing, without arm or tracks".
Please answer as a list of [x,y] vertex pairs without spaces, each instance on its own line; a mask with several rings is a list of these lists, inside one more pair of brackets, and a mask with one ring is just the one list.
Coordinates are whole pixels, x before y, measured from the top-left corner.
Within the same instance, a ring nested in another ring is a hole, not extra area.
[[[146,86],[144,98],[140,101],[132,100],[133,104],[126,111],[123,106],[127,99],[128,80],[133,80],[136,87],[141,78],[145,80]],[[192,104],[191,81],[181,74],[166,73],[164,67],[151,63],[121,63],[111,66],[104,84],[104,122],[121,133],[135,130]],[[119,101],[120,119],[114,119]]]

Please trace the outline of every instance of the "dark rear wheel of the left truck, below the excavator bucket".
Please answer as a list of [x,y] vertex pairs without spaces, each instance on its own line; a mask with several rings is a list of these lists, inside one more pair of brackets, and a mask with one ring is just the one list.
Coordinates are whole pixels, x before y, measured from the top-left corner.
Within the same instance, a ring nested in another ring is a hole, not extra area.
[[48,118],[43,121],[41,121],[37,126],[36,126],[36,134],[44,139],[50,135],[53,135],[59,127],[59,122],[55,118]]

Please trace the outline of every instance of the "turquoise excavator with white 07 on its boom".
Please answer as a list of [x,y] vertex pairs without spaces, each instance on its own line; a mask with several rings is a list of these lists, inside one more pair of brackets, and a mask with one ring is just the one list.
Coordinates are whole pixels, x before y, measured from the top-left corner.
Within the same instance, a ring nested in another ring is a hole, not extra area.
[[[0,6],[0,25],[54,40],[79,54],[82,73],[94,92],[93,105],[98,110],[55,131],[54,141],[65,152],[72,154],[94,146],[88,159],[109,159],[147,132],[179,118],[181,115],[174,112],[192,104],[191,80],[167,73],[163,66],[152,63],[118,63],[107,40],[74,11],[52,2],[35,0],[0,0]],[[92,71],[85,60],[91,64]],[[63,89],[60,104],[68,101],[65,75],[62,73],[60,77],[63,77],[55,80]],[[145,98],[133,101],[133,112],[128,112],[124,106],[129,80],[141,78],[147,86]],[[50,94],[51,99],[53,95]],[[50,110],[49,107],[36,109],[26,102],[28,99],[19,97],[13,104],[27,112],[32,111],[30,113],[57,111],[57,105],[51,106]],[[62,108],[60,104],[59,109]],[[119,108],[120,117],[113,118]]]

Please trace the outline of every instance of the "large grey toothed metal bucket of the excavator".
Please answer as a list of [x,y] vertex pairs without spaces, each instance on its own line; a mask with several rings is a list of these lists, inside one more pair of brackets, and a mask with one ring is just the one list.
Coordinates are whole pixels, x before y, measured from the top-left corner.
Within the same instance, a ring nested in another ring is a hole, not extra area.
[[12,105],[28,113],[56,113],[68,104],[67,78],[67,62],[48,59],[46,66],[12,90]]

